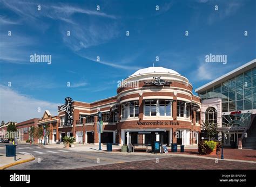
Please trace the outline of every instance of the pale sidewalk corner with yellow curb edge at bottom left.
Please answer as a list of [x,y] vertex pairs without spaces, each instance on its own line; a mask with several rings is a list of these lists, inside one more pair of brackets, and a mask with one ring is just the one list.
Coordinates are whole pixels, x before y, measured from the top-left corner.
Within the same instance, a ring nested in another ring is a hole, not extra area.
[[35,160],[35,157],[33,155],[16,155],[15,161],[14,156],[6,157],[5,154],[0,154],[0,170],[32,160]]

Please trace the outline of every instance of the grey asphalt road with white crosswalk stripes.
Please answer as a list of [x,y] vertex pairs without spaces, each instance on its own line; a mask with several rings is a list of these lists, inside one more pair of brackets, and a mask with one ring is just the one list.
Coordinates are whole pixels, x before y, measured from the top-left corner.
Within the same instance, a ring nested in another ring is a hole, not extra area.
[[[1,143],[0,153],[5,153],[5,144]],[[2,148],[1,148],[2,147]],[[32,154],[35,161],[19,164],[8,169],[77,169],[97,167],[104,164],[124,163],[132,161],[156,160],[170,155],[147,154],[134,155],[129,153],[88,152],[66,148],[44,148],[19,144],[17,154]]]

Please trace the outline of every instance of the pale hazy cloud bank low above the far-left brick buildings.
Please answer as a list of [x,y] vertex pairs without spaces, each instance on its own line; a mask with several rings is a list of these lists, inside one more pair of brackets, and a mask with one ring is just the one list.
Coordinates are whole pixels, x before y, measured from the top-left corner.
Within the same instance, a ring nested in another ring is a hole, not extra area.
[[[42,118],[45,110],[56,115],[57,106],[61,105],[22,95],[3,85],[0,85],[0,93],[0,119],[4,121],[21,122],[31,118]],[[41,108],[41,112],[38,112],[38,107]]]

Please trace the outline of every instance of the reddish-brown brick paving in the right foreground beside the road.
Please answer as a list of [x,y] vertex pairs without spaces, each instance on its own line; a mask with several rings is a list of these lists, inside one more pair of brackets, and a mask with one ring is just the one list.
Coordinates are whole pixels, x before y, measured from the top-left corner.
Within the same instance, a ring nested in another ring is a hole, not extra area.
[[170,158],[157,160],[147,160],[147,161],[135,161],[135,162],[125,162],[117,164],[106,164],[101,166],[78,168],[78,169],[256,169],[256,163],[246,163],[246,162],[233,162],[218,160],[215,163],[214,159],[198,159],[184,156],[172,156]]

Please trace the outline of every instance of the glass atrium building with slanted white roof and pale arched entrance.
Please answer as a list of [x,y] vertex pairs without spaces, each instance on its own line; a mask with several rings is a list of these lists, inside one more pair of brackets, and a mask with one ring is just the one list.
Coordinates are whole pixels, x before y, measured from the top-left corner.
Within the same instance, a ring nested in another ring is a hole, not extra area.
[[[256,126],[256,59],[196,89],[201,98],[201,118],[218,124],[224,145],[238,146]],[[223,136],[225,138],[223,138]]]

